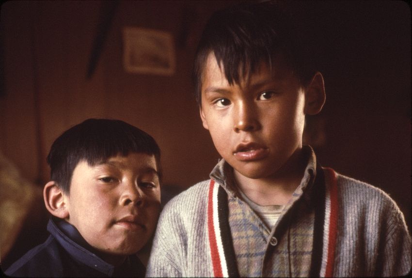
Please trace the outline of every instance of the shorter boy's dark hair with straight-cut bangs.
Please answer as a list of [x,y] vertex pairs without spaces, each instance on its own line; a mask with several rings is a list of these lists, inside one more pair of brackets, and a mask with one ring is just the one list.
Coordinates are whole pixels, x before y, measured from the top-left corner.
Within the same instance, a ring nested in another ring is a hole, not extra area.
[[88,119],[69,128],[53,142],[47,156],[51,180],[68,194],[79,161],[93,166],[117,154],[127,156],[129,153],[155,155],[161,178],[160,149],[149,134],[120,120]]

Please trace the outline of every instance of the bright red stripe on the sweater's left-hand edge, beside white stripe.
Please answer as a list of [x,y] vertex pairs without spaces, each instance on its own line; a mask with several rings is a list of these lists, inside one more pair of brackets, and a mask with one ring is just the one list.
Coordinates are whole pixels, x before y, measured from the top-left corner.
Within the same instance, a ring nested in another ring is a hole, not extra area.
[[209,231],[209,245],[210,253],[212,256],[213,273],[215,277],[223,277],[222,265],[218,251],[218,245],[216,242],[215,226],[213,223],[213,186],[215,182],[210,181],[209,185],[209,198],[207,202],[207,228]]

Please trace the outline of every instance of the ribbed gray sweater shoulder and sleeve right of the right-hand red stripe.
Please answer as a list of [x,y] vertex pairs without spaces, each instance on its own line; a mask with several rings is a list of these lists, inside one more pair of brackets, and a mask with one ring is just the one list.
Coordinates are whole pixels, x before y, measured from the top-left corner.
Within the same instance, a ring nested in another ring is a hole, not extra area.
[[339,175],[339,277],[399,277],[411,271],[411,235],[395,201],[381,189]]

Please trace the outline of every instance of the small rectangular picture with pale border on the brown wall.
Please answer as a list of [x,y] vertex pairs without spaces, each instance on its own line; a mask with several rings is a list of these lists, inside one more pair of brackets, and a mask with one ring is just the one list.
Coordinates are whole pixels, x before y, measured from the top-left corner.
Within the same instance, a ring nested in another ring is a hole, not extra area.
[[159,30],[125,27],[123,65],[128,73],[173,75],[176,65],[172,34]]

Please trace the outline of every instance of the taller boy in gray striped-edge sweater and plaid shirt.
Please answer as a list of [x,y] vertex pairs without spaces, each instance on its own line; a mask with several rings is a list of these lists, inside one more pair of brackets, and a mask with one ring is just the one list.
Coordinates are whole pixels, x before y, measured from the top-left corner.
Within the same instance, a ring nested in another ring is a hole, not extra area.
[[411,237],[380,189],[317,162],[305,115],[322,75],[272,2],[215,13],[194,67],[203,126],[222,156],[164,208],[149,277],[400,276]]

